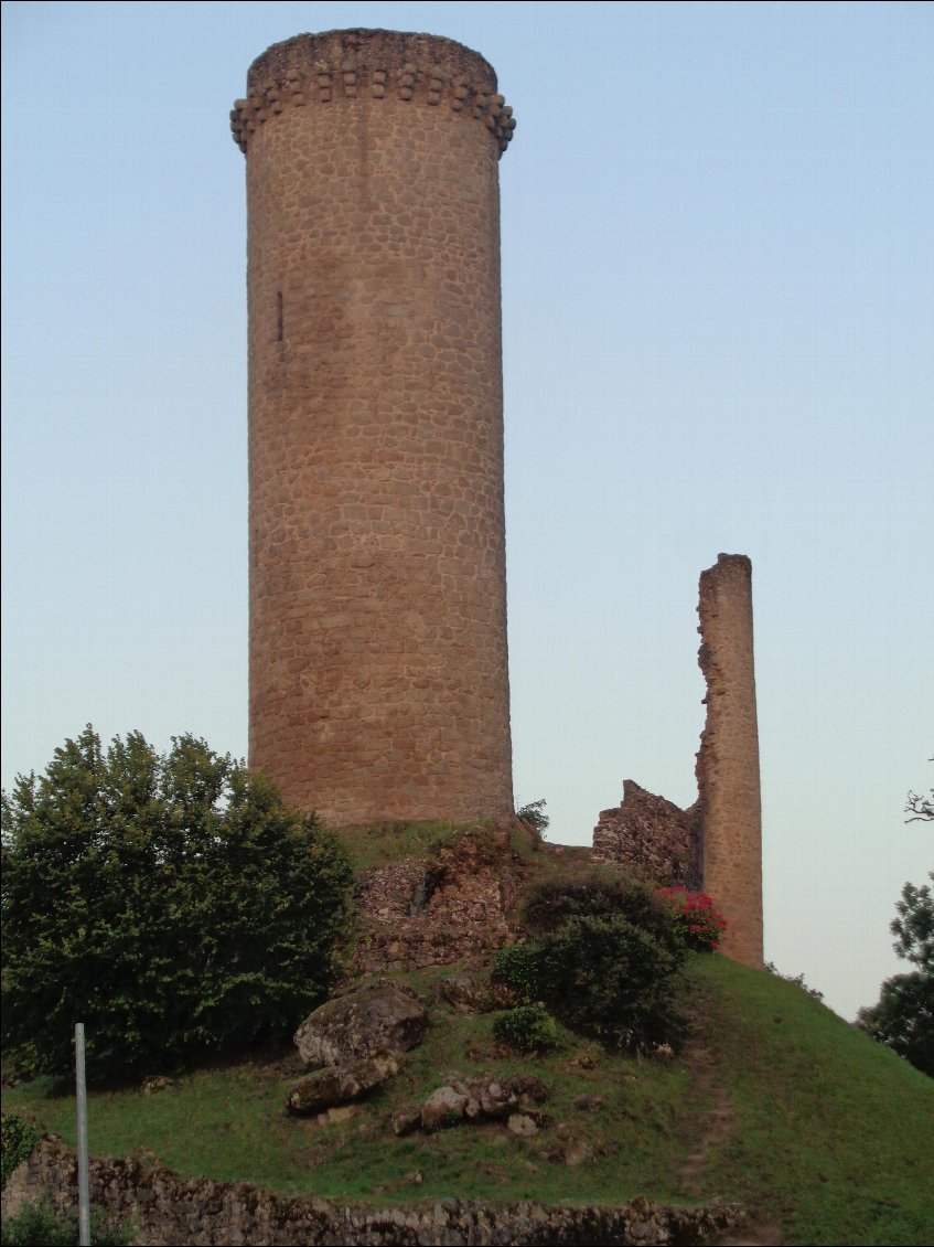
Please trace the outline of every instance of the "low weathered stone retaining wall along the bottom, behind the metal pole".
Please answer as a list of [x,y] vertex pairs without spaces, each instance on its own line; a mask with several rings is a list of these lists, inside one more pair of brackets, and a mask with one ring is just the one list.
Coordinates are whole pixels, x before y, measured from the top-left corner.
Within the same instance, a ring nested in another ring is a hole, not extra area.
[[[279,1195],[247,1182],[183,1181],[161,1166],[98,1158],[91,1161],[90,1178],[92,1202],[120,1221],[132,1221],[139,1247],[579,1247],[593,1242],[654,1247],[706,1242],[745,1220],[737,1205],[682,1208],[643,1197],[620,1207],[531,1200],[428,1200],[403,1208],[345,1205],[311,1195]],[[75,1153],[44,1140],[7,1182],[4,1216],[41,1198],[60,1212],[71,1212],[76,1186]]]

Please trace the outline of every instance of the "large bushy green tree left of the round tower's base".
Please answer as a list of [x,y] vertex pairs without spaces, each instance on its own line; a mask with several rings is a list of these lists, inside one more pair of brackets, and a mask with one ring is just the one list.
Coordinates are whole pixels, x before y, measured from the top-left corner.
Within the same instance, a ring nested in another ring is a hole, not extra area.
[[192,736],[88,726],[2,796],[2,1039],[65,1072],[154,1072],[286,1035],[326,994],[351,869],[274,786]]

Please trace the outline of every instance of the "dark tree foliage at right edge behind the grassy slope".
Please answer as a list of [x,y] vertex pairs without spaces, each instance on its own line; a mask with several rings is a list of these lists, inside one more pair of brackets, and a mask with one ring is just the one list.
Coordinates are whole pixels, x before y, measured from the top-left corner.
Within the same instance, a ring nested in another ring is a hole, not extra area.
[[[934,872],[929,875],[934,883]],[[934,1077],[934,895],[907,883],[892,920],[895,953],[917,969],[882,985],[879,1001],[861,1009],[857,1025]]]

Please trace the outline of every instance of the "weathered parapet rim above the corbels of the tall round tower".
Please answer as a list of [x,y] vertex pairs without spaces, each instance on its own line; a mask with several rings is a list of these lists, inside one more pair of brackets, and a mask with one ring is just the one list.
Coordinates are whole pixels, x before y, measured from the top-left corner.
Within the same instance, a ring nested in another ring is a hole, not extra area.
[[316,61],[347,64],[357,70],[402,70],[408,64],[431,64],[446,76],[462,75],[496,92],[493,66],[479,52],[443,35],[399,30],[328,30],[294,35],[262,52],[247,72],[247,86],[280,77],[288,70],[310,69]]

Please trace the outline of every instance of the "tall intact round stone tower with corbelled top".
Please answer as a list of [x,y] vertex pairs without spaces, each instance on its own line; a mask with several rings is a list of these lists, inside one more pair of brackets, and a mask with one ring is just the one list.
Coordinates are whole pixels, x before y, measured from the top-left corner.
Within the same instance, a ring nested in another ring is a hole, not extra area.
[[250,764],[337,826],[512,811],[498,161],[447,39],[299,35],[249,214]]

